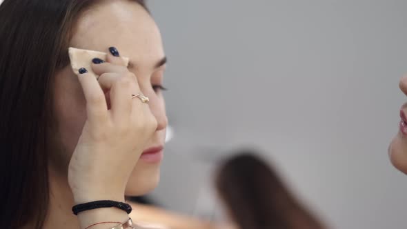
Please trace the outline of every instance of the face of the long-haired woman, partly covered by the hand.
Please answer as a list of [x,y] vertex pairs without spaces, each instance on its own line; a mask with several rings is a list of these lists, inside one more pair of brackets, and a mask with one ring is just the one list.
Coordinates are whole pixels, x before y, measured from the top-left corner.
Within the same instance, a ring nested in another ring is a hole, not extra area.
[[[159,86],[163,85],[165,55],[159,29],[150,14],[135,1],[103,1],[79,19],[70,46],[102,52],[114,46],[121,57],[130,58],[129,70],[137,76],[141,92],[149,97],[148,105],[158,122],[146,150],[163,146],[167,117]],[[51,155],[51,161],[55,167],[65,170],[86,121],[86,101],[70,66],[57,74],[54,94],[59,150]],[[155,188],[160,161],[142,156],[132,172],[126,195],[143,195]]]

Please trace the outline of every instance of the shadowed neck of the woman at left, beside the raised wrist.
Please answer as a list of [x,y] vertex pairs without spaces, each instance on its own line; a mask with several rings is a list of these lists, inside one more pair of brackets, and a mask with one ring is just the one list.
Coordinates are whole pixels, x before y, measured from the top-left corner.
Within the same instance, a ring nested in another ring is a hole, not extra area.
[[77,217],[72,213],[74,199],[68,185],[68,175],[49,169],[50,205],[43,229],[80,228]]

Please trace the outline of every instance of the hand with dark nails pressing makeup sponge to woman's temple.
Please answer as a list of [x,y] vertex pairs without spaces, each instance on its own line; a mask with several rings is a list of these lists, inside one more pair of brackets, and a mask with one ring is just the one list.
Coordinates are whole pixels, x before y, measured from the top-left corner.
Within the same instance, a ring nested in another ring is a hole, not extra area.
[[87,72],[78,75],[87,119],[70,160],[68,181],[76,203],[123,201],[130,174],[157,129],[157,120],[148,104],[132,99],[141,90],[119,57],[108,54],[107,62],[93,63],[92,70],[99,79]]

